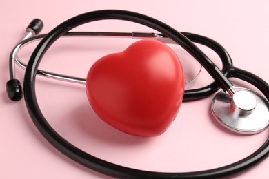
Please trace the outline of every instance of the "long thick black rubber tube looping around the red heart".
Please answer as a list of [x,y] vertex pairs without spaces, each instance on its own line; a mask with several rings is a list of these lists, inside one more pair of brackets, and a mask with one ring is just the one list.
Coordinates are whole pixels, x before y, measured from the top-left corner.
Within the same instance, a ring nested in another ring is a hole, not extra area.
[[205,67],[206,70],[212,74],[212,76],[224,91],[228,91],[232,87],[232,84],[228,81],[226,76],[224,76],[221,70],[218,70],[218,68],[210,61],[210,59],[208,59],[198,48],[196,48],[196,46],[193,45],[185,36],[176,30],[173,30],[164,23],[161,23],[150,17],[146,17],[142,14],[120,10],[104,10],[81,14],[62,23],[57,28],[54,28],[54,30],[52,30],[39,43],[37,48],[32,53],[32,56],[30,57],[30,61],[28,63],[28,67],[26,68],[26,74],[24,77],[23,87],[28,112],[41,134],[43,134],[43,136],[52,145],[54,145],[54,147],[59,149],[59,151],[61,151],[66,156],[81,163],[81,165],[117,178],[221,178],[238,174],[252,167],[253,165],[266,158],[266,156],[268,156],[269,140],[266,140],[266,143],[264,143],[262,147],[260,147],[257,151],[255,151],[255,153],[251,154],[247,158],[217,169],[188,173],[142,171],[115,165],[111,162],[107,162],[105,160],[91,156],[90,154],[81,151],[77,147],[74,147],[74,145],[68,143],[68,141],[59,136],[59,134],[57,134],[57,132],[54,131],[52,127],[50,127],[37,103],[37,97],[35,94],[35,77],[37,75],[37,68],[43,54],[61,35],[65,34],[78,25],[82,25],[83,23],[102,19],[121,19],[134,21],[136,23],[141,23],[143,25],[149,26],[150,28],[158,30],[173,41],[179,43],[179,45],[182,45],[183,48],[190,52],[190,54],[192,54],[195,59],[197,59],[203,65],[203,67]]

